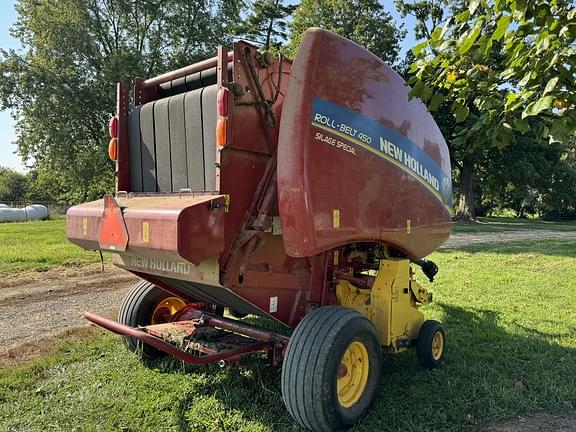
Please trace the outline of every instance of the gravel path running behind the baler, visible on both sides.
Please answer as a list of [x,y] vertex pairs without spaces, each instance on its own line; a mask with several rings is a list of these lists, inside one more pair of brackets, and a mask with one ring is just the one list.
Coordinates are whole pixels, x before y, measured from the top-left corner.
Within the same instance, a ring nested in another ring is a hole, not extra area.
[[[454,234],[443,248],[478,243],[576,239],[576,231],[516,230]],[[137,278],[108,264],[90,264],[46,272],[26,272],[0,280],[0,360],[21,344],[34,344],[63,330],[86,325],[90,310],[113,317]],[[12,352],[12,354],[11,354]]]

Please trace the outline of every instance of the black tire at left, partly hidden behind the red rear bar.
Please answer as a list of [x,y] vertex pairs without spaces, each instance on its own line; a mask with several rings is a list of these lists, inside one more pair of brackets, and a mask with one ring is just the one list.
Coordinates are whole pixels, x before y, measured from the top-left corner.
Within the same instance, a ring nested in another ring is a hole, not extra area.
[[[156,306],[168,297],[173,296],[150,282],[140,281],[133,285],[124,297],[118,312],[118,322],[130,327],[147,326],[152,323]],[[122,341],[128,351],[138,355],[144,362],[166,355],[133,337],[122,336]]]

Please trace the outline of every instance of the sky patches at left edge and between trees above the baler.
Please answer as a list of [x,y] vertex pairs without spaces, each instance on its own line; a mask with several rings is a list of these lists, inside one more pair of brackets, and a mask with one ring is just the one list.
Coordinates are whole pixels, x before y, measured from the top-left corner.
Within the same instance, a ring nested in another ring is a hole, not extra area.
[[[0,0],[0,2],[4,6],[2,13],[0,13],[0,48],[16,49],[19,47],[19,43],[10,36],[9,32],[10,27],[16,21],[16,11],[14,10],[16,0]],[[404,23],[405,29],[408,31],[406,39],[402,43],[401,57],[403,57],[406,51],[416,45],[414,40],[414,20],[410,18],[403,20],[394,8],[393,0],[381,0],[381,3],[392,14],[397,23]],[[16,141],[16,133],[14,125],[15,122],[10,112],[0,111],[0,166],[7,166],[16,171],[26,172],[26,167],[22,160],[15,154],[16,145],[14,142]]]

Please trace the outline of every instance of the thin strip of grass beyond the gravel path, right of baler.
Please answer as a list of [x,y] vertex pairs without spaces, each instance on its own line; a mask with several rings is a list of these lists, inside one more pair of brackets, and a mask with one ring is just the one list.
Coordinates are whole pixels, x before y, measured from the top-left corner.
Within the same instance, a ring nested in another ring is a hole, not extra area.
[[498,232],[509,230],[576,231],[576,221],[552,222],[541,219],[517,219],[512,217],[481,217],[477,223],[452,225],[454,233]]

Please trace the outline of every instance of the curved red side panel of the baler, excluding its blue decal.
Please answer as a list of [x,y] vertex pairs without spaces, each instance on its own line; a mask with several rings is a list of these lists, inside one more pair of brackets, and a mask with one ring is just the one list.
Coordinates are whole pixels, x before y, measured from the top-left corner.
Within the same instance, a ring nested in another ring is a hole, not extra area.
[[[409,101],[408,92],[389,66],[355,43],[325,30],[306,32],[292,66],[278,145],[279,206],[289,255],[378,241],[418,258],[448,238],[448,210],[411,176],[363,148],[354,156],[314,139],[311,106],[318,98],[396,130],[449,174],[446,143],[424,105]],[[334,210],[340,212],[338,228]]]

